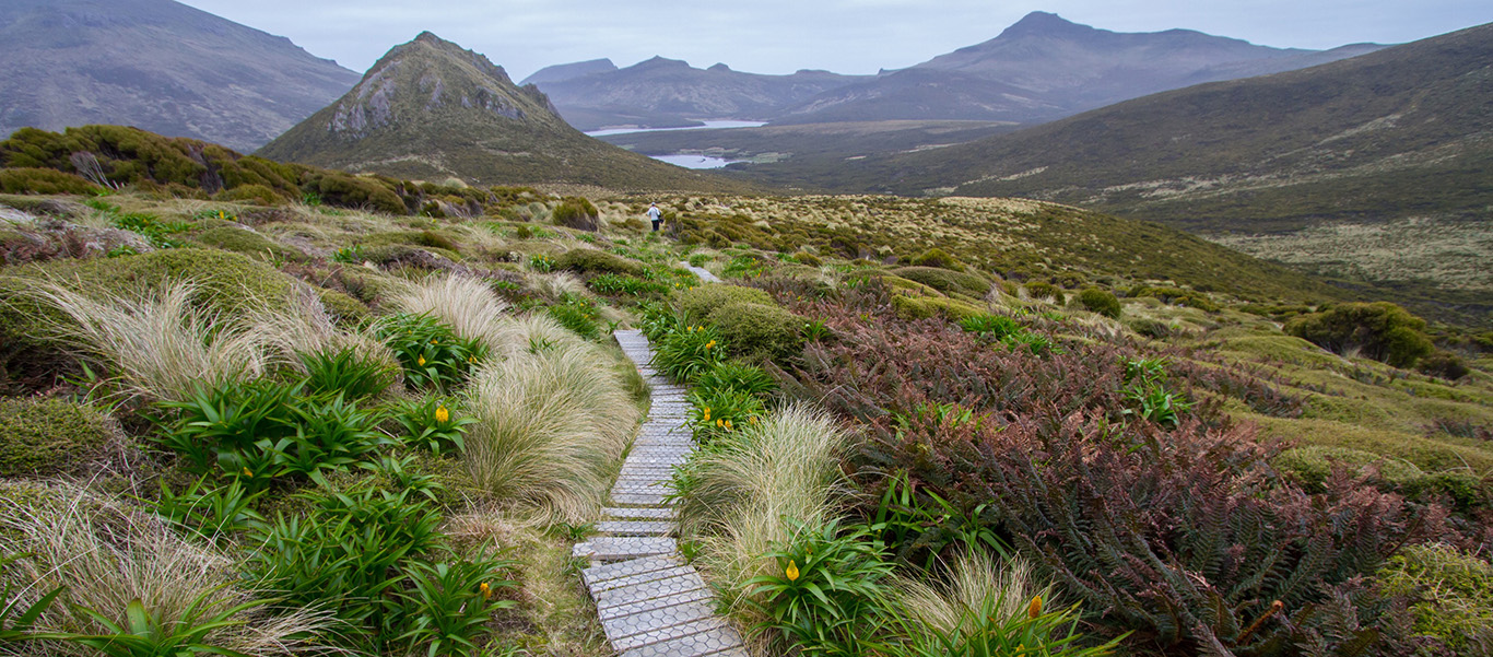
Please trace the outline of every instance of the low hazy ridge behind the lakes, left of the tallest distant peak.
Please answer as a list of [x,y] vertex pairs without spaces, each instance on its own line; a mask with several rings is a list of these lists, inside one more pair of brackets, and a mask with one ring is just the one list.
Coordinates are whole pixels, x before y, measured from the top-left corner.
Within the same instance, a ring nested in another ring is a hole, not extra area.
[[699,125],[712,118],[767,121],[787,106],[869,78],[823,70],[757,75],[654,57],[626,69],[611,60],[551,66],[524,84],[536,84],[572,125],[596,130]]

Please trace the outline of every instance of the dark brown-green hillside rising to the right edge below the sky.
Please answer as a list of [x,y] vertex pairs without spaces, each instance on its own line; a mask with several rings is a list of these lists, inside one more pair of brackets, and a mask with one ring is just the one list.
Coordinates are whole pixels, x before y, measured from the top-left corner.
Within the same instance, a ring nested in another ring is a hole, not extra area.
[[1493,24],[1305,70],[1147,96],[936,151],[779,175],[1020,196],[1194,230],[1493,208]]

